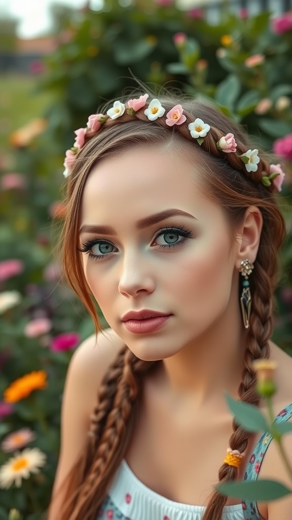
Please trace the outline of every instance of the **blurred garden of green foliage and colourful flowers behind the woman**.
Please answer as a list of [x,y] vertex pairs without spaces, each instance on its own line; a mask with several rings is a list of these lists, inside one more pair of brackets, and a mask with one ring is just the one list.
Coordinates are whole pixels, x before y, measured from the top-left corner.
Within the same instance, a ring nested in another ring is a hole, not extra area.
[[12,464],[0,520],[11,508],[23,520],[46,510],[65,373],[94,332],[60,279],[55,250],[64,151],[100,103],[137,86],[133,76],[157,92],[167,85],[215,100],[286,161],[273,339],[292,355],[292,13],[251,15],[225,2],[210,23],[205,9],[183,11],[171,0],[105,0],[100,11],[63,11],[58,22],[51,53],[30,75],[5,73],[0,83],[0,466],[24,448],[41,469],[17,487]]

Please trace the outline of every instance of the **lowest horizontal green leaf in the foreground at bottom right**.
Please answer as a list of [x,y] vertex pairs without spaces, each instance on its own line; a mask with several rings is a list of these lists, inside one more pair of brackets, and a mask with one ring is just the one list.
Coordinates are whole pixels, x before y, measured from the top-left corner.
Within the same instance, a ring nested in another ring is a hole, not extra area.
[[228,482],[216,486],[222,495],[252,501],[277,500],[292,493],[291,489],[276,480],[245,480],[245,482]]

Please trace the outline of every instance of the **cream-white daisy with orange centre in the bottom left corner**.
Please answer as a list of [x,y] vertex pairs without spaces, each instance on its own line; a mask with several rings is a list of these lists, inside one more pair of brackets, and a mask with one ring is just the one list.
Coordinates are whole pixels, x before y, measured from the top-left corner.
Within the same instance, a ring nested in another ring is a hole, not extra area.
[[16,487],[20,487],[22,478],[38,473],[39,467],[45,463],[45,453],[38,448],[25,448],[0,467],[0,487],[8,489],[14,482]]

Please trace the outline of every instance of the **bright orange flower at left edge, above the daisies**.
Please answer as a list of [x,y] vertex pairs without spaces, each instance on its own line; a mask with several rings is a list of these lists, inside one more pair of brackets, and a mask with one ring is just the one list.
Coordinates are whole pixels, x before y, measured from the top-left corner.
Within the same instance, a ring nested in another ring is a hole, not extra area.
[[6,388],[3,400],[18,402],[28,397],[34,390],[41,390],[47,386],[47,374],[44,370],[35,370],[16,379]]

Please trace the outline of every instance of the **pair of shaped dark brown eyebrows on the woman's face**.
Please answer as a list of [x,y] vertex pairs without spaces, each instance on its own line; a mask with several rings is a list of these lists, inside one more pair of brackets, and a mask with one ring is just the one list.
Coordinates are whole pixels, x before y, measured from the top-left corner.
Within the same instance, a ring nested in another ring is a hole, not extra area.
[[[174,216],[184,216],[184,217],[191,217],[193,219],[196,219],[191,213],[188,213],[187,211],[182,211],[178,209],[169,209],[160,211],[159,213],[154,213],[154,215],[149,215],[148,217],[141,218],[136,223],[137,229],[144,229],[149,226],[153,226],[153,224],[157,224],[158,222],[161,222],[162,220],[165,220],[169,217]],[[81,233],[98,233],[99,235],[116,235],[116,231],[111,226],[97,226],[94,224],[84,224],[81,226],[79,230],[79,234]]]

